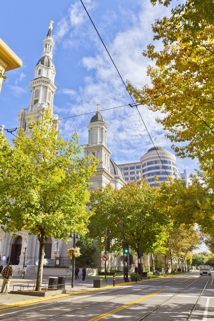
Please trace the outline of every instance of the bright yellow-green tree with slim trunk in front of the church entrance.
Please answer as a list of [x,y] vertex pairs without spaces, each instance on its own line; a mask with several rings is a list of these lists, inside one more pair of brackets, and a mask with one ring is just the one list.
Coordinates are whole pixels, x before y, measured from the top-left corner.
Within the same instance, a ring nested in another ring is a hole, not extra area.
[[84,233],[91,212],[86,182],[96,169],[94,156],[81,157],[77,133],[63,140],[50,111],[36,125],[31,138],[23,129],[11,146],[0,133],[0,223],[4,231],[27,230],[40,242],[36,291],[40,290],[45,239],[67,242],[71,231]]

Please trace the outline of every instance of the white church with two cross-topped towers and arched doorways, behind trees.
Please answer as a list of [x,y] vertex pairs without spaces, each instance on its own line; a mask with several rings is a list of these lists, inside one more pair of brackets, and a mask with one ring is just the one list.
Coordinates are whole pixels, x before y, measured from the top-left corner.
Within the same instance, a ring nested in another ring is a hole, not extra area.
[[[17,114],[19,117],[18,127],[24,128],[26,137],[30,137],[29,122],[33,118],[36,123],[37,119],[42,119],[42,114],[47,108],[52,111],[55,128],[58,129],[60,121],[58,115],[53,114],[53,99],[57,87],[54,84],[55,80],[55,66],[52,61],[52,50],[54,41],[52,38],[52,23],[50,22],[49,31],[43,40],[43,52],[41,58],[36,64],[34,70],[34,79],[30,83],[31,97],[28,108],[21,108]],[[100,158],[100,163],[97,166],[96,175],[91,178],[92,187],[97,188],[105,186],[109,183],[115,188],[120,188],[126,182],[120,168],[110,158],[110,150],[107,147],[107,128],[104,118],[99,112],[99,108],[95,115],[91,118],[88,124],[88,144],[85,145],[85,155],[93,154]],[[4,232],[0,229],[0,255],[10,256],[10,261],[13,265],[23,265],[24,255],[25,262],[29,261],[31,265],[39,258],[40,243],[37,236],[30,235],[26,230],[17,232],[17,235],[12,237],[13,233]],[[69,238],[66,244],[62,240],[49,238],[45,244],[45,258],[51,259],[56,256],[67,258],[67,248],[73,246],[73,239]],[[101,253],[95,255],[95,264],[98,270],[102,269]],[[122,265],[118,258],[113,255],[110,264],[120,268]]]

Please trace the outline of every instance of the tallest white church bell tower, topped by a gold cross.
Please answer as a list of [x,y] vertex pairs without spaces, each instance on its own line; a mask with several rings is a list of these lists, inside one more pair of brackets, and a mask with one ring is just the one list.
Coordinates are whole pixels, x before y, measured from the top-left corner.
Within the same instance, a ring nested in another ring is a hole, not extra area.
[[17,114],[19,117],[18,127],[24,128],[26,137],[30,137],[31,133],[28,128],[30,118],[33,117],[33,121],[37,123],[38,118],[42,118],[42,114],[48,107],[51,108],[53,115],[55,128],[58,128],[60,124],[58,115],[53,114],[53,97],[57,87],[54,84],[55,79],[55,67],[52,61],[52,50],[54,47],[54,41],[52,38],[52,23],[49,22],[49,30],[47,37],[43,40],[44,49],[40,60],[38,61],[34,70],[34,79],[31,80],[31,98],[28,108],[21,108],[21,112]]

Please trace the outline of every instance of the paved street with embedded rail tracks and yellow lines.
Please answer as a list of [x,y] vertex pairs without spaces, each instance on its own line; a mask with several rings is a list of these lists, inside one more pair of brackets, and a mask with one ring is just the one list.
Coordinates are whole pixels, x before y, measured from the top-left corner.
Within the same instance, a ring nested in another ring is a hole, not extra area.
[[0,320],[212,321],[213,292],[213,272],[211,276],[200,276],[194,271],[114,288],[82,289],[19,307],[0,307]]

